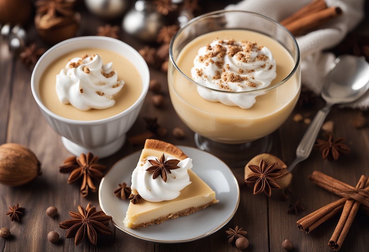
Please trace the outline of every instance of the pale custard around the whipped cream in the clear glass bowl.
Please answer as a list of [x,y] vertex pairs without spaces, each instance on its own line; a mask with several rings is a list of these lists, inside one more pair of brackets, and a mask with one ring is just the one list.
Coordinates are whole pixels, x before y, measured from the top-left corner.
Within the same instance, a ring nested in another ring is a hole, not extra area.
[[[191,78],[193,60],[199,48],[215,39],[255,41],[266,46],[276,60],[276,78],[270,84],[282,81],[294,68],[289,52],[274,39],[254,31],[222,30],[204,34],[189,42],[176,58],[180,70]],[[299,69],[286,83],[256,97],[249,109],[228,106],[200,97],[196,85],[169,66],[169,92],[179,117],[195,132],[224,143],[244,143],[264,137],[276,130],[292,112],[300,93]]]

